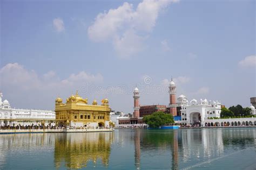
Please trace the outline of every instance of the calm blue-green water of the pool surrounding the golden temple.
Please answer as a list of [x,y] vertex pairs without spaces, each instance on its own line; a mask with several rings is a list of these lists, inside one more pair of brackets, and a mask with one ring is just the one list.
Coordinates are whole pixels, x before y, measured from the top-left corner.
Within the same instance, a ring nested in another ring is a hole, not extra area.
[[1,134],[0,169],[256,169],[256,128]]

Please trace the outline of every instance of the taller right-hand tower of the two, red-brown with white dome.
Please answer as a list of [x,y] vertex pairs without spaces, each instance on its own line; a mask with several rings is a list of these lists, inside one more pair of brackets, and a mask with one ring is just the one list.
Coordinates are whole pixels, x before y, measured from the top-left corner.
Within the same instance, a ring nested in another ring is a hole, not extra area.
[[169,104],[170,114],[172,114],[172,116],[177,116],[176,86],[172,80],[169,86],[169,94],[170,94],[170,104]]

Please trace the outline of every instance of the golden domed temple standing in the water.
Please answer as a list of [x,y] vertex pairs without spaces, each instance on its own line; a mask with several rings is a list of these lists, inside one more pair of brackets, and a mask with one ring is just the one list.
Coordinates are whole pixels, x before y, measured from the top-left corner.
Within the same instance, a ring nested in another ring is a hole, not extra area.
[[56,121],[59,125],[107,128],[109,127],[110,111],[107,98],[102,100],[101,105],[98,105],[96,100],[92,104],[87,104],[87,98],[80,97],[78,92],[67,98],[66,103],[63,103],[60,97],[55,100]]

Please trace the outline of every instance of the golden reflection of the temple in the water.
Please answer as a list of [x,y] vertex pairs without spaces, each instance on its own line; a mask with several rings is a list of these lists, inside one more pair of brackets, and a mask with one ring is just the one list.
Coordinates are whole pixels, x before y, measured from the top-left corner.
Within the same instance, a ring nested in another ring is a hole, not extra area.
[[92,161],[96,166],[98,160],[107,167],[111,152],[113,133],[65,133],[55,140],[55,166],[82,168]]

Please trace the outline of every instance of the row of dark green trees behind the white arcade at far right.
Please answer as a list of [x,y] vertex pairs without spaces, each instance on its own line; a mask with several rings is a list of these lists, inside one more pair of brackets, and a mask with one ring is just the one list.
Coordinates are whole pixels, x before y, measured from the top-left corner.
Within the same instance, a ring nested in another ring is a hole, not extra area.
[[221,108],[220,117],[247,117],[251,115],[251,108],[242,108],[241,105],[232,106],[230,108]]

